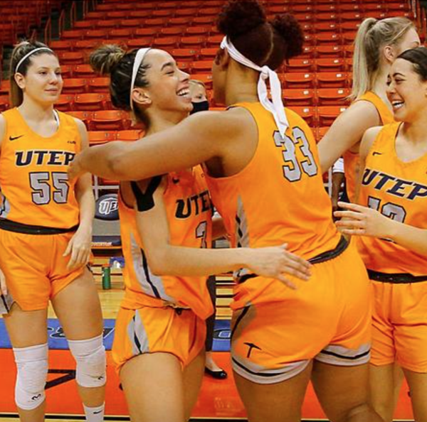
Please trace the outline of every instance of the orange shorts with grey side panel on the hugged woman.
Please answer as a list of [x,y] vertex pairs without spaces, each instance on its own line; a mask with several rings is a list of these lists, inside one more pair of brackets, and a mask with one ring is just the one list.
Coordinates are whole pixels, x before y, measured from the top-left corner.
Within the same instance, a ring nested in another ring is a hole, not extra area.
[[206,323],[190,309],[120,308],[115,325],[112,359],[117,372],[143,353],[171,353],[186,367],[204,348]]

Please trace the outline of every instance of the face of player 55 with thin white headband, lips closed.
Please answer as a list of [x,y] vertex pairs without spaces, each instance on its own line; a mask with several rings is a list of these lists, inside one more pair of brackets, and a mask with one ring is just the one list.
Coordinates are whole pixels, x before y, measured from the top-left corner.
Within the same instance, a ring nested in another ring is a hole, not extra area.
[[39,54],[30,58],[26,75],[16,73],[15,80],[23,91],[40,104],[54,104],[58,101],[63,87],[58,58],[53,54]]

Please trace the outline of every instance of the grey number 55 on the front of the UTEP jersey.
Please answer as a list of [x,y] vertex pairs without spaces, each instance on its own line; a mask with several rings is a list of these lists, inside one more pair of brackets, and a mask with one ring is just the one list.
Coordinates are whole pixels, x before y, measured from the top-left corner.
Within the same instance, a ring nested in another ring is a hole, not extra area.
[[57,204],[67,203],[70,190],[67,173],[54,172],[51,174],[53,189],[49,183],[51,175],[47,171],[30,173],[30,186],[33,190],[31,198],[36,205],[47,205],[52,199]]

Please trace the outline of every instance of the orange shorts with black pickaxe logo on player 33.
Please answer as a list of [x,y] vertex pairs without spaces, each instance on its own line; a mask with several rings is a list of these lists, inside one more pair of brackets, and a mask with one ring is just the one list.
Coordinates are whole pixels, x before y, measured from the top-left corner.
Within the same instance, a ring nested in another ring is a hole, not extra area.
[[[258,278],[239,285],[236,299]],[[295,377],[312,359],[340,366],[369,362],[369,278],[352,245],[314,264],[310,281],[296,291],[279,281],[264,286],[270,291],[259,297],[270,302],[248,303],[233,314],[231,357],[241,377],[273,384]]]

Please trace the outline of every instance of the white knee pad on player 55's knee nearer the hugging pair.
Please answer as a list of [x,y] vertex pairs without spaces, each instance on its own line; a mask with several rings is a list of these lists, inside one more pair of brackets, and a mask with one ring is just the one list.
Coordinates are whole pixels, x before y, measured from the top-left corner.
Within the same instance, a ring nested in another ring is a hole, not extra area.
[[83,387],[103,386],[107,381],[105,347],[102,335],[88,340],[68,340],[75,362],[75,380]]

